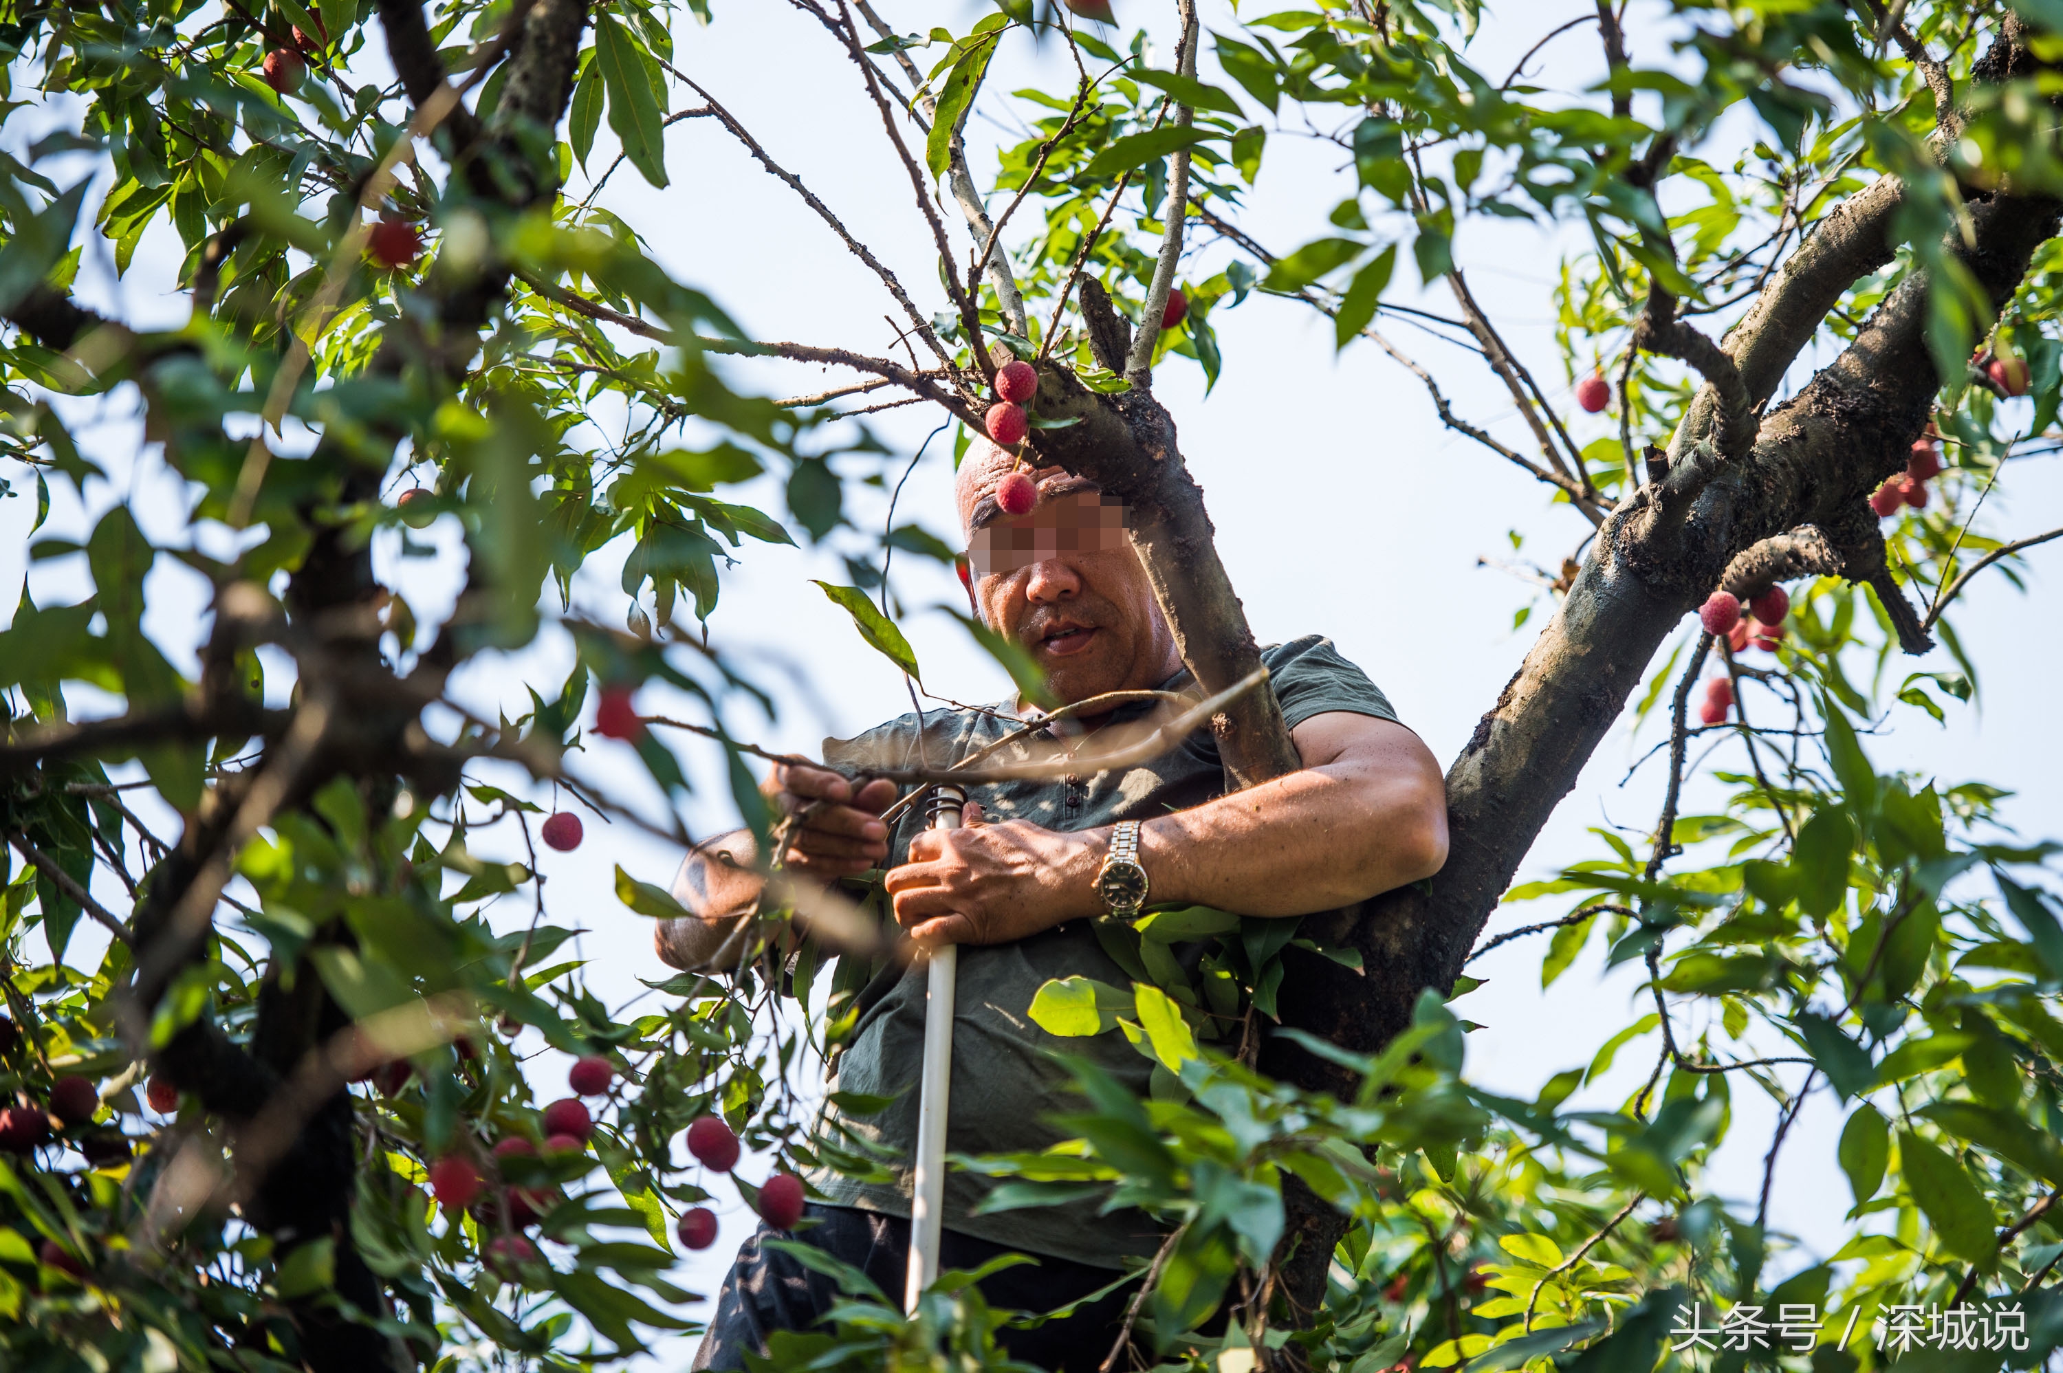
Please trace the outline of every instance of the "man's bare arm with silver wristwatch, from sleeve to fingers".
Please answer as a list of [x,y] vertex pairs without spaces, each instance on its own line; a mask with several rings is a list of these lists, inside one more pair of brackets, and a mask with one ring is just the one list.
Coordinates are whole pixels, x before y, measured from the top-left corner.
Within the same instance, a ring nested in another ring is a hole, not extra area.
[[[1432,876],[1446,862],[1446,783],[1411,730],[1327,711],[1291,740],[1304,769],[1141,825],[1153,905],[1306,915]],[[978,808],[974,808],[978,818]],[[1025,821],[924,831],[887,874],[920,940],[1001,944],[1100,915],[1108,829]]]

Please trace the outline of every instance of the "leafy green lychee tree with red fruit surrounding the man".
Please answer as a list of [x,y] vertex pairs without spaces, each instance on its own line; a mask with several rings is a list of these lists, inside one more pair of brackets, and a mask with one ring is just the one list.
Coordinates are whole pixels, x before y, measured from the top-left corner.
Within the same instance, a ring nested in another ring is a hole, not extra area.
[[[1029,1010],[1056,1035],[1131,1035],[1155,1099],[1085,1074],[1077,1150],[965,1167],[1015,1177],[1013,1204],[1116,1183],[1164,1216],[1131,1315],[1174,1363],[1650,1369],[1683,1361],[1665,1340],[1683,1301],[1811,1305],[1824,1326],[1756,1359],[1820,1373],[1881,1363],[1851,1336],[1892,1307],[2018,1301],[2026,1348],[1939,1361],[2046,1359],[2063,1338],[2051,849],[2007,837],[1995,788],[1910,777],[1857,722],[1962,709],[1958,594],[2063,534],[1991,532],[1978,509],[2009,458],[2053,443],[2063,396],[2063,12],[1683,2],[1681,52],[1642,54],[1599,4],[1543,27],[1498,82],[1469,60],[1475,0],[1227,12],[1209,33],[1178,0],[1170,52],[1089,0],[1005,0],[963,33],[792,2],[908,173],[937,284],[897,278],[720,103],[695,25],[724,16],[703,0],[0,8],[10,109],[68,122],[0,155],[8,458],[37,526],[52,489],[93,511],[78,542],[35,548],[83,559],[91,594],[25,594],[0,635],[8,1367],[598,1367],[693,1328],[668,1270],[675,1245],[716,1241],[706,1185],[732,1185],[714,1177],[741,1136],[780,1159],[736,1183],[776,1225],[805,1196],[790,1165],[879,1169],[813,1132],[807,1080],[889,957],[879,891],[776,884],[728,977],[681,975],[660,1008],[619,1014],[565,959],[532,837],[574,849],[586,810],[691,843],[584,779],[574,746],[617,740],[670,798],[712,752],[745,823],[778,839],[749,765],[763,750],[734,728],[765,689],[718,614],[753,540],[844,555],[854,585],[825,590],[883,670],[916,676],[887,555],[953,550],[846,517],[848,484],[891,456],[858,423],[883,390],[957,421],[961,447],[986,429],[1025,466],[1122,495],[1227,788],[1291,769],[1153,394],[1155,367],[1215,381],[1252,293],[1403,365],[1446,427],[1591,534],[1543,577],[1547,627],[1448,773],[1446,870],[1302,928],[1188,909],[1110,930],[1133,985],[1069,979]],[[1601,89],[1553,76],[1556,43],[1578,41],[1603,45]],[[1075,76],[988,89],[996,54],[1029,43]],[[963,138],[978,103],[1034,130],[992,173]],[[1714,132],[1729,111],[1756,120],[1739,157]],[[604,115],[615,155],[596,150]],[[664,130],[687,118],[879,278],[910,365],[751,340],[652,262],[607,186],[629,163],[666,188]],[[1289,128],[1343,167],[1318,188],[1329,225],[1271,247],[1242,210]],[[1595,243],[1553,301],[1572,406],[1456,266],[1483,216],[1582,223]],[[153,225],[184,245],[186,326],[72,299],[89,254],[128,272]],[[1452,313],[1395,299],[1401,260]],[[1531,441],[1459,414],[1390,320],[1463,340]],[[1834,361],[1805,369],[1807,346]],[[856,379],[772,400],[751,359]],[[109,456],[74,439],[113,404],[140,406],[146,458],[182,482],[177,538],[149,540]],[[716,495],[767,474],[780,511]],[[419,623],[371,544],[417,550],[439,522],[464,585]],[[629,550],[627,631],[571,610],[609,546]],[[144,631],[169,565],[208,588],[194,643]],[[576,670],[532,682],[518,719],[468,713],[454,674],[547,625]],[[646,682],[701,715],[640,713]],[[80,689],[116,709],[74,722]],[[1603,833],[1597,856],[1510,889],[1628,713],[1665,734],[1650,837]],[[1698,773],[1723,804],[1683,814]],[[489,831],[532,860],[479,858]],[[617,895],[679,911],[627,872]],[[1584,1072],[1496,1097],[1467,1084],[1446,1002],[1473,987],[1500,899],[1551,895],[1572,909],[1500,942],[1545,936],[1551,981],[1603,932],[1655,1010]],[[497,901],[534,919],[493,924]],[[105,952],[76,952],[80,919]],[[576,1056],[565,1089],[524,1074],[538,1041]],[[1655,1053],[1640,1091],[1562,1109],[1634,1043]],[[1780,1111],[1741,1208],[1704,1165],[1749,1089]],[[1815,1091],[1844,1103],[1857,1237],[1853,1262],[1791,1272],[1768,1179]],[[953,1276],[912,1319],[840,1278],[840,1319],[784,1336],[778,1367],[930,1367],[941,1342],[978,1367],[1015,1319]],[[1223,1334],[1194,1334],[1225,1307]]]

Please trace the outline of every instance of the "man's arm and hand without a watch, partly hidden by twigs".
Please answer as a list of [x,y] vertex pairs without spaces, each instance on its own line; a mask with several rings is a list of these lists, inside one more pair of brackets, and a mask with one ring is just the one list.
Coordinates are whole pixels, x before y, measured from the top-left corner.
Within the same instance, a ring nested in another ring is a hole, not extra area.
[[[889,856],[889,831],[881,812],[895,800],[895,785],[871,781],[854,794],[852,783],[821,767],[776,765],[759,788],[786,814],[811,806],[788,841],[786,872],[831,882],[866,872]],[[703,971],[736,934],[739,919],[759,899],[759,845],[753,831],[739,829],[695,845],[673,878],[673,899],[693,919],[662,919],[652,932],[658,957],[679,969]]]

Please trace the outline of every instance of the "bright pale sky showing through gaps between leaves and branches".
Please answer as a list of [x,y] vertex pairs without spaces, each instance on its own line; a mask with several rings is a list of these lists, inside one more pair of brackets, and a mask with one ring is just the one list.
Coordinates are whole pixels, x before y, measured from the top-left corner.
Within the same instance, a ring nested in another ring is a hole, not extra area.
[[[1126,21],[1137,21],[1147,8],[1145,0],[1116,0],[1116,6]],[[906,31],[930,25],[963,31],[984,8],[976,0],[883,4]],[[1159,14],[1161,8],[1168,14]],[[1260,12],[1265,6],[1250,8]],[[1153,23],[1164,29],[1164,52],[1172,41],[1172,4],[1153,6]],[[1576,0],[1494,4],[1469,56],[1479,70],[1502,78],[1537,37],[1586,12],[1593,8]],[[1207,25],[1225,27],[1225,16],[1223,0],[1205,4]],[[1634,60],[1671,60],[1667,35],[1657,29],[1657,23],[1667,21],[1663,6],[1636,4],[1634,19]],[[1065,54],[1058,49],[1032,54],[1027,43],[1013,39],[990,76],[990,89],[1036,85],[1065,91],[1073,85],[1073,68],[1062,64]],[[724,101],[772,157],[831,204],[854,235],[895,268],[920,307],[943,305],[930,237],[916,216],[904,169],[883,140],[850,62],[813,21],[782,4],[716,0],[716,23],[710,29],[681,19],[677,66]],[[367,62],[363,70],[375,68]],[[1603,70],[1595,31],[1580,27],[1562,35],[1535,60],[1533,70],[1545,70],[1545,85],[1558,89],[1591,85]],[[1205,74],[1211,74],[1209,62]],[[673,107],[689,103],[691,93],[677,95]],[[60,103],[43,113],[41,122],[31,122],[31,111],[17,113],[0,142],[19,153],[52,122],[62,122],[66,107]],[[76,128],[76,111],[68,118]],[[996,140],[1015,142],[1019,136],[1009,111],[996,99],[984,99],[968,134],[976,175],[992,171],[990,148]],[[1704,155],[1714,163],[1731,161],[1731,148],[1756,136],[1760,130],[1743,120],[1729,120]],[[611,155],[613,140],[604,124],[590,163],[596,173]],[[1273,136],[1244,216],[1246,229],[1275,252],[1322,233],[1324,212],[1345,188],[1343,163],[1347,157],[1339,146],[1298,130]],[[755,338],[891,350],[893,336],[883,311],[891,311],[893,303],[879,282],[722,128],[712,120],[673,126],[668,169],[673,186],[666,190],[652,190],[629,167],[619,169],[604,202],[646,237],[652,254],[681,280],[710,291]],[[60,165],[56,179],[70,183],[80,171],[83,165],[76,163],[72,169]],[[1351,177],[1351,167],[1347,175]],[[578,175],[574,190],[586,190]],[[1456,260],[1506,338],[1562,406],[1576,439],[1586,441],[1605,433],[1609,416],[1584,416],[1568,400],[1551,334],[1549,293],[1558,262],[1576,247],[1578,239],[1566,233],[1512,221],[1471,221],[1461,231]],[[957,237],[955,252],[965,252]],[[80,295],[132,324],[175,326],[188,309],[184,295],[171,289],[179,256],[175,235],[159,223],[118,284],[107,245],[93,239]],[[1186,276],[1209,276],[1221,264],[1223,249],[1205,247]],[[1411,303],[1411,284],[1393,289],[1393,299]],[[1423,305],[1442,313],[1452,309],[1444,289],[1428,293]],[[1525,536],[1525,548],[1516,557],[1553,567],[1576,548],[1589,526],[1568,507],[1549,507],[1545,489],[1527,474],[1440,429],[1419,383],[1372,344],[1360,342],[1335,357],[1331,322],[1306,305],[1254,295],[1238,309],[1221,309],[1213,322],[1225,355],[1217,390],[1205,398],[1199,369],[1170,359],[1157,377],[1157,392],[1182,427],[1184,458],[1205,487],[1219,550],[1256,635],[1265,643],[1302,633],[1331,635],[1390,695],[1405,724],[1444,763],[1452,761],[1543,623],[1537,614],[1531,625],[1514,631],[1514,612],[1535,604],[1537,588],[1481,567],[1479,559],[1512,559],[1508,532],[1516,530]],[[1487,423],[1518,447],[1527,445],[1508,398],[1485,369],[1401,320],[1393,317],[1380,328],[1407,353],[1438,369],[1456,412]],[[846,379],[846,373],[786,363],[736,365],[728,375],[736,386],[769,396]],[[89,511],[70,499],[58,501],[45,536],[83,538],[101,509],[132,497],[144,530],[161,540],[171,538],[177,530],[171,511],[177,509],[182,491],[167,478],[155,449],[138,451],[134,392],[118,392],[99,410],[70,406],[68,414],[99,416],[78,433],[89,451],[116,474],[116,482],[95,482],[89,489]],[[891,480],[937,423],[935,414],[918,406],[873,421],[875,433],[893,449]],[[17,480],[17,491],[25,491],[19,482],[21,468],[0,468],[0,476]],[[897,520],[916,515],[930,530],[951,536],[949,472],[951,443],[949,435],[941,435],[918,464]],[[778,495],[761,495],[778,509]],[[14,588],[23,577],[33,480],[27,497],[0,501],[0,606],[6,606],[0,614],[10,614]],[[2059,524],[2059,511],[2063,472],[2057,460],[2016,462],[1993,491],[1980,528],[2001,536],[2030,534]],[[877,522],[879,515],[877,501],[866,520]],[[431,536],[446,557],[411,559],[402,565],[398,540],[388,538],[380,546],[382,573],[398,579],[425,621],[444,614],[462,575],[450,557],[456,530],[437,528]],[[1985,779],[2018,792],[2009,802],[2009,818],[2028,837],[2063,833],[2063,746],[2051,728],[2059,658],[2049,635],[2038,633],[2040,625],[2055,625],[2049,606],[2059,555],[2053,548],[2032,555],[2030,594],[2022,596],[2001,575],[1987,573],[1954,616],[1983,672],[1980,701],[1962,709],[1952,705],[1945,728],[1900,707],[1884,734],[1865,740],[1879,767],[1896,765],[1937,775],[1945,783]],[[621,623],[621,546],[600,552],[578,583],[578,602],[604,623]],[[815,750],[825,734],[854,734],[908,709],[904,682],[860,643],[844,612],[809,585],[809,577],[846,581],[836,559],[757,544],[749,544],[741,557],[743,567],[726,581],[712,618],[712,635],[726,651],[757,656],[769,666],[763,676],[780,684],[780,711],[772,722],[739,717],[734,728],[749,730],[755,742],[772,748]],[[76,557],[39,563],[31,575],[39,604],[76,600],[85,585],[83,559]],[[947,616],[924,610],[959,602],[959,588],[949,573],[920,565],[918,559],[897,559],[895,592],[912,610],[904,629],[935,693],[961,701],[1005,695],[1005,678],[974,649],[965,633]],[[151,631],[175,662],[192,662],[192,649],[206,633],[204,588],[192,573],[161,559],[151,594]],[[1685,627],[1690,625],[1685,618]],[[454,691],[483,713],[505,707],[514,715],[528,709],[526,682],[543,691],[555,689],[569,662],[565,635],[549,631],[526,654],[470,664]],[[1937,651],[1921,664],[1894,662],[1892,672],[1902,676],[1919,668],[1950,670],[1952,664],[1945,651]],[[281,697],[285,680],[279,674],[274,682]],[[691,709],[658,691],[646,693],[640,705],[666,713]],[[105,713],[111,703],[80,691],[74,695],[74,709]],[[1624,777],[1630,761],[1657,736],[1650,724],[1638,740],[1624,730],[1605,740],[1535,843],[1520,880],[1597,856],[1603,845],[1584,833],[1589,827],[1615,825],[1630,839],[1652,827],[1661,765],[1650,763],[1630,781]],[[699,763],[697,796],[685,810],[695,835],[736,825],[720,775],[708,763],[706,757]],[[623,796],[656,804],[621,744],[594,740],[576,767]],[[491,779],[501,785],[512,781],[503,775]],[[1688,808],[1698,808],[1696,794],[1688,798]],[[159,833],[171,829],[167,818]],[[505,829],[499,833],[510,845],[507,856],[520,856],[514,837]],[[495,851],[485,835],[474,841],[474,849]],[[658,979],[664,973],[650,955],[648,924],[615,901],[611,866],[623,864],[642,878],[664,882],[677,862],[679,851],[670,845],[625,825],[604,827],[592,818],[580,851],[543,853],[553,919],[576,922],[586,930],[582,952],[592,961],[588,983],[611,1004],[637,996],[640,975]],[[1562,909],[1568,907],[1506,907],[1494,915],[1489,932],[1545,919]],[[497,913],[497,922],[510,926],[526,924],[528,917],[526,905]],[[97,957],[93,936],[93,926],[80,928],[74,963]],[[1545,936],[1520,940],[1471,969],[1489,983],[1456,1010],[1483,1023],[1469,1041],[1469,1070],[1483,1086],[1531,1097],[1549,1074],[1586,1064],[1603,1039],[1648,1010],[1634,971],[1619,969],[1613,977],[1603,977],[1595,946],[1584,963],[1541,994],[1543,952]],[[646,1006],[650,1004],[648,1000]],[[1685,1037],[1698,1029],[1702,1027],[1679,1025]],[[1646,1076],[1652,1053],[1652,1037],[1630,1045],[1591,1099],[1617,1105]],[[534,1060],[541,1101],[559,1095],[563,1068],[557,1053]],[[1737,1084],[1733,1101],[1733,1134],[1721,1150],[1714,1185],[1751,1210],[1774,1111],[1749,1082]],[[1832,1099],[1818,1095],[1793,1130],[1778,1173],[1772,1216],[1799,1237],[1805,1253],[1826,1255],[1842,1239],[1848,1187],[1834,1167],[1840,1119]],[[759,1179],[765,1165],[747,1161],[741,1171]],[[718,1183],[718,1192],[724,1190]],[[681,1270],[685,1282],[701,1293],[714,1293],[734,1245],[747,1233],[749,1216],[734,1198],[720,1206],[720,1214],[718,1245],[691,1255]],[[1784,1266],[1801,1262],[1803,1253]],[[683,1342],[660,1342],[648,1367],[685,1367],[687,1352]]]

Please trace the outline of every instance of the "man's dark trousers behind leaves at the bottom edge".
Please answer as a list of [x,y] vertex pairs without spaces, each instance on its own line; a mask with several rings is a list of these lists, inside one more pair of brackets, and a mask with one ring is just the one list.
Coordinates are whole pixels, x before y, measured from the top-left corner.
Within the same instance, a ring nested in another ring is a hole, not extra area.
[[[910,1220],[883,1216],[852,1206],[809,1206],[807,1214],[821,1225],[796,1231],[792,1239],[817,1245],[864,1272],[891,1303],[902,1303],[904,1274],[910,1253]],[[805,1268],[792,1253],[767,1249],[767,1239],[790,1239],[765,1225],[739,1247],[739,1262],[716,1295],[716,1315],[695,1350],[695,1369],[743,1369],[745,1352],[765,1354],[767,1334],[776,1330],[809,1330],[840,1299],[838,1282]],[[945,1231],[939,1245],[939,1268],[980,1268],[998,1253],[1011,1253],[974,1235]],[[1034,1255],[1038,1258],[1038,1255]],[[1052,1311],[1118,1278],[1114,1268],[1091,1268],[1071,1260],[1040,1258],[1017,1264],[982,1280],[982,1297],[990,1307],[1011,1311]],[[998,1330],[996,1342],[1011,1359],[1036,1363],[1054,1373],[1093,1373],[1110,1354],[1124,1328],[1124,1305],[1133,1286],[1126,1284],[1102,1297],[1065,1321],[1046,1321],[1036,1330]]]

